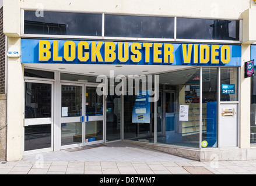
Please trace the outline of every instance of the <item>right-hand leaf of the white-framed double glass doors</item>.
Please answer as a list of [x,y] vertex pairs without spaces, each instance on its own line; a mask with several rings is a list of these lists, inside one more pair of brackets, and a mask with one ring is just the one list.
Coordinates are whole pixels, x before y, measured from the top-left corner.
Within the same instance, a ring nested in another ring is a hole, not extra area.
[[[103,88],[103,87],[102,87]],[[85,87],[85,145],[104,142],[104,101],[97,87]]]

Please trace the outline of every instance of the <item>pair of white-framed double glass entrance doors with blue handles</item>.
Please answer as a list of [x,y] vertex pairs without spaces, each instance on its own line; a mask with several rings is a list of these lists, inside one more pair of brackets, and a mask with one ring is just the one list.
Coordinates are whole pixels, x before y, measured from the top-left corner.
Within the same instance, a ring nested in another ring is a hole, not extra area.
[[105,109],[97,86],[61,83],[62,149],[104,142]]

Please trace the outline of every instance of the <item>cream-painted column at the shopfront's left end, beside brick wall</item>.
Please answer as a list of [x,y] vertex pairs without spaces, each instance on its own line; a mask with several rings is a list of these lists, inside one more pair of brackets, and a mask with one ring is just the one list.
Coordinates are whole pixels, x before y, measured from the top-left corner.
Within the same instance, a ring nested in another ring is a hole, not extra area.
[[[8,37],[8,48],[17,45],[20,38]],[[24,112],[24,76],[20,58],[7,60],[7,151],[6,160],[15,161],[23,156],[23,112]]]

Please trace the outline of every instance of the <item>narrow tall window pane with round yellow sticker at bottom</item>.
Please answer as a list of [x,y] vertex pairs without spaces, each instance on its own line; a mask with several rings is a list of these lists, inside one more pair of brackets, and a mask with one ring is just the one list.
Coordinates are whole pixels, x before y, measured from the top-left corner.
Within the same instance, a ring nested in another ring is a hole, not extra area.
[[202,69],[202,147],[217,147],[218,69]]

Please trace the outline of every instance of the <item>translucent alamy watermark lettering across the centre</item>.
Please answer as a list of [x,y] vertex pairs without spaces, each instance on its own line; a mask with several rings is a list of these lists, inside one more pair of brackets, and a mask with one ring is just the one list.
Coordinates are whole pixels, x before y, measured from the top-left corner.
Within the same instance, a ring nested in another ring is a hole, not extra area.
[[[110,82],[108,82],[108,80]],[[96,90],[97,95],[138,95],[140,90],[150,90],[147,91],[149,95],[148,101],[156,102],[159,99],[159,94],[156,92],[156,90],[159,90],[159,75],[129,75],[125,77],[119,74],[115,76],[114,70],[110,70],[109,78],[106,75],[100,75],[97,76],[96,81],[100,82]],[[155,87],[153,87],[154,84]],[[105,90],[103,88],[104,85],[106,85]]]

